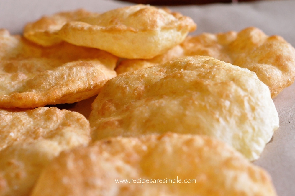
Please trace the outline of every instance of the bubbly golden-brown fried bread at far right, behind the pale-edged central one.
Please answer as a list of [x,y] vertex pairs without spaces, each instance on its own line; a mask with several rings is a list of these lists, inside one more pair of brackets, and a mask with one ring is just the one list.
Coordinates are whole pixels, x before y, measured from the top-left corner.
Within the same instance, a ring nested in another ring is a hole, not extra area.
[[182,47],[185,55],[208,55],[254,71],[269,87],[271,97],[295,79],[295,49],[282,37],[268,36],[255,27],[188,37]]

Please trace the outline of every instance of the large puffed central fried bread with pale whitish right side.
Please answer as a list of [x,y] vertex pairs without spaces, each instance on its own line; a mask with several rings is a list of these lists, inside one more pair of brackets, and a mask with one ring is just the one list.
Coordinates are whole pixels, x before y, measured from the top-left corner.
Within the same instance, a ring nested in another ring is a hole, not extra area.
[[254,72],[207,56],[179,58],[109,80],[92,103],[94,140],[149,133],[214,136],[258,159],[278,113]]

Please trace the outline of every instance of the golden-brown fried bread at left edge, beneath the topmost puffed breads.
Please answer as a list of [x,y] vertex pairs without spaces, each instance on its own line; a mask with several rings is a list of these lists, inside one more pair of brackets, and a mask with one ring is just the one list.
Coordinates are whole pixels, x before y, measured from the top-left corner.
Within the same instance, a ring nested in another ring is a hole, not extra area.
[[0,45],[1,108],[78,102],[116,76],[118,58],[102,50],[65,42],[44,48],[7,30]]

